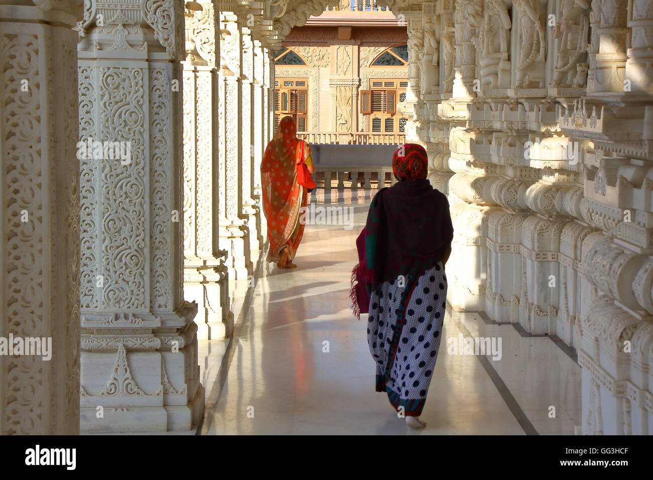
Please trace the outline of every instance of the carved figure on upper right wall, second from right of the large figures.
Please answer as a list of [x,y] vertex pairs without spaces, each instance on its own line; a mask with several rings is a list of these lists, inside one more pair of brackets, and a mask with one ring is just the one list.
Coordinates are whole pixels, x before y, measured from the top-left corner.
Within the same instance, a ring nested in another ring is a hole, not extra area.
[[527,88],[537,84],[541,88],[543,80],[539,68],[543,66],[546,38],[538,0],[514,0],[520,18],[521,50],[517,65],[517,88]]

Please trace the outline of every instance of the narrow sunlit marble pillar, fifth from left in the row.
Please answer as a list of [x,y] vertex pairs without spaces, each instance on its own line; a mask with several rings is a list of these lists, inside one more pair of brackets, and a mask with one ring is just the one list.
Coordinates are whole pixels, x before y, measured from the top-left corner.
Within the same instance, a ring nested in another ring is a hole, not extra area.
[[[241,88],[241,131],[242,148],[240,150],[240,176],[242,189],[242,217],[246,221],[249,231],[249,249],[259,249],[259,231],[261,230],[261,210],[257,205],[254,195],[254,155],[255,139],[254,125],[254,44],[252,32],[247,27],[241,27],[240,38],[242,41],[242,68],[240,75]],[[259,163],[260,165],[260,163]]]

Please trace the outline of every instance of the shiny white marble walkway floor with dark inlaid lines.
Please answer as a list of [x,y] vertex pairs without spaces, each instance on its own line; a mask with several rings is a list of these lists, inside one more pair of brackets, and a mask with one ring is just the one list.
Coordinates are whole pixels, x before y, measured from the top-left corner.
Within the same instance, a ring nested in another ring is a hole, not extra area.
[[502,359],[452,355],[442,342],[422,413],[428,425],[409,430],[374,391],[366,315],[357,321],[349,311],[355,239],[374,192],[334,190],[326,203],[317,192],[321,206],[353,208],[353,228],[308,225],[298,268],[263,266],[221,380],[210,366],[223,347],[215,345],[215,356],[202,351],[210,385],[201,434],[573,434],[581,423],[579,366],[550,338],[451,311],[445,339],[502,338]]

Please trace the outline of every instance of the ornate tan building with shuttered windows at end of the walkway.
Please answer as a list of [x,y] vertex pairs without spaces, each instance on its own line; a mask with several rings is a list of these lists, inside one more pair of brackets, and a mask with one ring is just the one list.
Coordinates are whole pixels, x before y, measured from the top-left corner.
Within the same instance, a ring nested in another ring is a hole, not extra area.
[[311,143],[398,144],[407,39],[387,7],[349,1],[293,27],[273,54],[275,127],[291,115]]

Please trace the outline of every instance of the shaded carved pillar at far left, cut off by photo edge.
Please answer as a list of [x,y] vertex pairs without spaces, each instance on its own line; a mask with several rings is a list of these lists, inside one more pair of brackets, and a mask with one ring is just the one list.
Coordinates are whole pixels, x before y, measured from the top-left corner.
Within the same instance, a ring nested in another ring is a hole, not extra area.
[[0,337],[40,345],[0,355],[3,435],[79,433],[81,16],[77,0],[0,5]]

